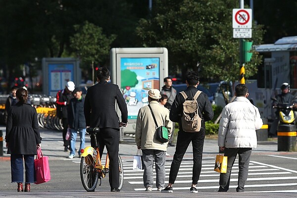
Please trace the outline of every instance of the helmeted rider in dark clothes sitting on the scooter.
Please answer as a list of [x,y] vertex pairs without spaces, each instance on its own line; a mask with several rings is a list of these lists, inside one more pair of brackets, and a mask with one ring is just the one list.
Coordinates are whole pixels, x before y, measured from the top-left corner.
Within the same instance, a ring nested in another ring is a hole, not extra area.
[[[295,98],[292,94],[290,94],[290,85],[289,83],[283,83],[281,86],[282,93],[277,95],[276,98],[274,99],[272,106],[278,106],[279,104],[284,104],[284,103],[291,103],[294,104],[293,110],[294,110],[294,116],[297,117],[297,98]],[[270,130],[270,135],[276,135],[276,129],[278,126],[279,122],[279,111],[277,110],[275,112],[276,117],[274,122],[272,123],[271,130]],[[295,124],[296,124],[295,119]]]

